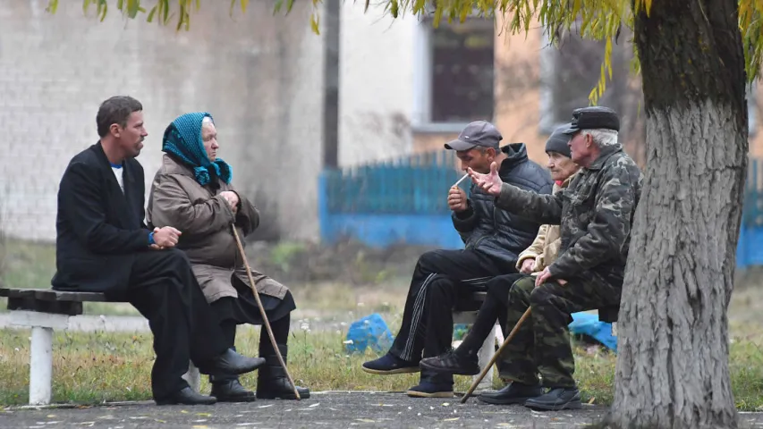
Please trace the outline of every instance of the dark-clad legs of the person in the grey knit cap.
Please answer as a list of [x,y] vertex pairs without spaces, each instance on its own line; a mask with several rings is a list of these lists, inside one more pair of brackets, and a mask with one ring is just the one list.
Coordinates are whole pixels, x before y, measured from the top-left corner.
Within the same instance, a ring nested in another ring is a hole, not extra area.
[[[487,338],[487,334],[493,329],[496,320],[501,325],[501,329],[511,330],[513,326],[506,326],[506,315],[509,311],[509,291],[514,282],[521,278],[528,277],[529,274],[511,273],[499,275],[487,282],[487,297],[482,306],[479,307],[477,320],[471,325],[471,331],[463,339],[461,345],[456,349],[457,353],[476,357],[479,348]],[[508,331],[505,331],[508,334]],[[500,365],[500,364],[499,364]]]

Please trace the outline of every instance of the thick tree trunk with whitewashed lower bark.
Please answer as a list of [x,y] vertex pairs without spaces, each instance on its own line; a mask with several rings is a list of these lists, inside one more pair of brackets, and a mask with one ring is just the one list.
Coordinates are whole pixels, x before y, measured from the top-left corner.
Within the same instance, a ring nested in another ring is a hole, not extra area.
[[609,427],[736,427],[726,312],[747,171],[735,0],[635,20],[647,166],[618,320]]

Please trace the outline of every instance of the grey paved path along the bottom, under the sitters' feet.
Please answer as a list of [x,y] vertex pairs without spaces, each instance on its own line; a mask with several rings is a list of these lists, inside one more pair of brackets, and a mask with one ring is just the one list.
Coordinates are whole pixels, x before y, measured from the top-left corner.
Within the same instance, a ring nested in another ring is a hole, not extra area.
[[606,408],[538,413],[493,406],[471,398],[411,399],[404,393],[320,392],[308,400],[258,400],[250,404],[157,407],[153,402],[93,408],[19,409],[0,412],[0,428],[530,428],[582,427]]

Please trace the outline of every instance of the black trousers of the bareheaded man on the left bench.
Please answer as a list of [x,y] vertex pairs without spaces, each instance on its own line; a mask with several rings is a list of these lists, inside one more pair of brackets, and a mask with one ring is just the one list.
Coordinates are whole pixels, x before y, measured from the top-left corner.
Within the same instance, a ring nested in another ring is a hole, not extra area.
[[136,254],[126,299],[148,319],[157,359],[151,370],[154,399],[188,386],[189,360],[201,368],[228,349],[225,335],[181,250]]

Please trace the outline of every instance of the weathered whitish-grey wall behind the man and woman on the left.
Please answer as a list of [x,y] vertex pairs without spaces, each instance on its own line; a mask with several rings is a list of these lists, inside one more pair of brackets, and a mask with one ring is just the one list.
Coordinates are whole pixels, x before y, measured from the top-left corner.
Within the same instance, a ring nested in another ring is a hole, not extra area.
[[[127,94],[148,127],[139,161],[147,191],[174,117],[215,116],[220,156],[233,183],[258,195],[283,238],[318,236],[323,40],[309,32],[311,4],[273,16],[272,1],[229,7],[204,2],[191,31],[85,17],[81,2],[0,2],[0,209],[7,235],[55,240],[55,195],[69,159],[97,141],[97,106]],[[269,226],[269,225],[268,225]]]

